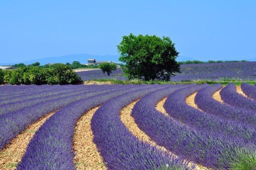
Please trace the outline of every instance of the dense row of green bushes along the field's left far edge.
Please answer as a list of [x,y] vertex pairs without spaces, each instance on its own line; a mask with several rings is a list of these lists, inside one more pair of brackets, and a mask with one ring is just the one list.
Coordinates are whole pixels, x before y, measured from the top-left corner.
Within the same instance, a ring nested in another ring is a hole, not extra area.
[[4,82],[12,85],[42,85],[42,84],[81,84],[83,81],[70,66],[65,64],[53,64],[48,68],[44,66],[26,66],[16,70],[6,70]]

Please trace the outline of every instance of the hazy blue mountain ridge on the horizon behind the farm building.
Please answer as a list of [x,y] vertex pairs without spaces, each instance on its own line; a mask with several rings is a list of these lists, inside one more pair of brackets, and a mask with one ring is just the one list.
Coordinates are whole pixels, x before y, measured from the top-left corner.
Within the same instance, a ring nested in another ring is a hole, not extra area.
[[[0,63],[0,66],[4,65],[13,65],[18,63],[24,63],[26,65],[39,62],[41,65],[45,65],[48,63],[72,63],[73,61],[79,61],[82,64],[87,63],[87,59],[95,58],[96,61],[115,61],[118,62],[119,55],[91,55],[91,54],[70,54],[64,55],[60,57],[48,57],[41,58],[35,60],[29,60],[24,62],[15,62],[15,63]],[[177,61],[187,61],[187,60],[195,60],[191,57],[179,56],[177,57]]]

